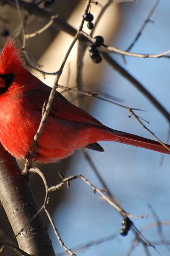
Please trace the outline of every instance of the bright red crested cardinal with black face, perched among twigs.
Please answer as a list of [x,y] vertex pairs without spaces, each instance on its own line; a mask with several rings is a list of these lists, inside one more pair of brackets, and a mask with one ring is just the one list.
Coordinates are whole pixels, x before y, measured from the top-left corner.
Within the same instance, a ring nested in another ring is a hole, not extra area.
[[[22,159],[30,149],[51,89],[23,67],[20,55],[8,39],[0,57],[0,141],[11,155]],[[117,141],[170,154],[157,141],[108,128],[56,91],[38,141],[37,161],[57,162],[82,147],[104,151],[97,141]]]

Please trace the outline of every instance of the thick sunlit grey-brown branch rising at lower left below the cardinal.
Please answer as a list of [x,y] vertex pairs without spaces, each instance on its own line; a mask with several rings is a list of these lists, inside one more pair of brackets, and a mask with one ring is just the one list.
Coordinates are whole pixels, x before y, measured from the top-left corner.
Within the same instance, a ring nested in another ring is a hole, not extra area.
[[0,151],[0,199],[20,249],[33,256],[55,255],[41,215],[27,226],[37,212],[28,177],[21,174],[15,159],[1,144]]

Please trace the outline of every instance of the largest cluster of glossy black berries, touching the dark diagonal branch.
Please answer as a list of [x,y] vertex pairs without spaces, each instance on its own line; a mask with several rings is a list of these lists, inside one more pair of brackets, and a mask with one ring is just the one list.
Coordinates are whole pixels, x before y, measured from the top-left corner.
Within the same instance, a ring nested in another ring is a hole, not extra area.
[[102,58],[97,47],[104,44],[104,38],[102,36],[96,36],[94,39],[94,44],[89,46],[90,58],[93,62],[100,63]]

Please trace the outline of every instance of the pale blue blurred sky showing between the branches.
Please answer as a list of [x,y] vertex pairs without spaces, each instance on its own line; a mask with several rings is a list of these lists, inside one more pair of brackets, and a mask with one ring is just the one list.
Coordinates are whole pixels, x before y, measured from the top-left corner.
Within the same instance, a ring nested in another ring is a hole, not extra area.
[[[143,0],[135,4],[125,4],[122,10],[120,33],[116,39],[113,39],[113,46],[122,50],[129,46],[154,2]],[[155,54],[170,49],[170,2],[160,1],[151,20],[153,22],[148,23],[141,38],[131,50],[132,52]],[[114,58],[169,110],[169,59],[126,57],[125,65],[122,57],[114,55]],[[150,124],[145,123],[145,125],[158,138],[165,141],[168,131],[166,119],[145,96],[110,67],[106,68],[106,76],[101,81],[100,90],[121,99],[126,106],[147,110],[136,114],[149,121]],[[124,109],[94,100],[89,111],[109,127],[151,138],[135,119],[128,117],[129,113]],[[168,220],[170,214],[169,156],[165,156],[163,165],[160,167],[161,155],[159,153],[120,143],[102,142],[100,144],[105,148],[105,153],[90,150],[88,152],[113,195],[127,212],[134,215],[149,214],[145,219],[131,219],[137,228],[140,229],[155,222],[149,204],[152,205],[160,221]],[[81,173],[101,188],[81,151],[72,157],[68,173]],[[127,237],[119,235],[122,221],[120,214],[98,194],[93,196],[92,189],[79,180],[73,181],[66,193],[67,198],[64,198],[55,213],[55,222],[65,244],[70,248],[115,233],[117,234],[115,239],[92,246],[82,255],[125,255],[131,247],[134,235],[132,232]],[[168,239],[169,227],[164,227],[163,232]],[[150,242],[159,239],[156,228],[147,229],[143,235]],[[55,241],[54,236],[52,238]],[[55,245],[56,251],[61,252],[60,245],[56,242]],[[157,250],[161,255],[169,254],[165,246],[157,246]],[[151,255],[158,255],[154,249],[150,248],[149,251]],[[145,255],[145,251],[140,245],[132,255]]]

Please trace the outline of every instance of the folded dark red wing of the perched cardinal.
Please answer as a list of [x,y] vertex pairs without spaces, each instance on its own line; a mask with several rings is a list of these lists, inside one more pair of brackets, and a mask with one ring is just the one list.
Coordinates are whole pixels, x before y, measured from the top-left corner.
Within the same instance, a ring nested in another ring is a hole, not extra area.
[[[48,100],[50,87],[44,83],[40,83],[34,90],[28,91],[26,94],[29,107],[33,110],[42,112],[44,102]],[[65,119],[71,122],[83,122],[89,124],[102,125],[97,119],[89,115],[86,111],[72,105],[63,95],[56,91],[52,108],[49,116]]]

